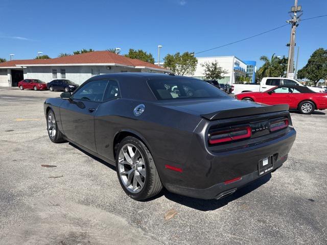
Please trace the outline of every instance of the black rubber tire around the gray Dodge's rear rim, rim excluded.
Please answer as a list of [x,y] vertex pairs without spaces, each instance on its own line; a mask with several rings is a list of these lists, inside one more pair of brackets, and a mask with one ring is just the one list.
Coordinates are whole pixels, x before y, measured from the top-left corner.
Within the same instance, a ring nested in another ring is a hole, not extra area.
[[[145,177],[144,185],[143,185],[142,189],[137,193],[132,193],[131,191],[129,191],[125,187],[125,185],[122,181],[122,178],[120,176],[119,155],[120,155],[122,148],[126,144],[133,144],[137,148],[137,150],[139,152],[141,152],[142,157],[145,162],[146,177]],[[141,140],[134,138],[132,136],[125,137],[119,143],[118,149],[116,151],[116,172],[117,172],[117,176],[118,176],[119,182],[120,182],[123,190],[130,198],[132,198],[134,200],[139,201],[139,200],[149,199],[149,198],[153,197],[154,195],[158,194],[162,190],[162,185],[161,185],[161,181],[160,181],[160,178],[158,175],[158,171],[154,164],[153,157],[152,157],[149,149]]]

